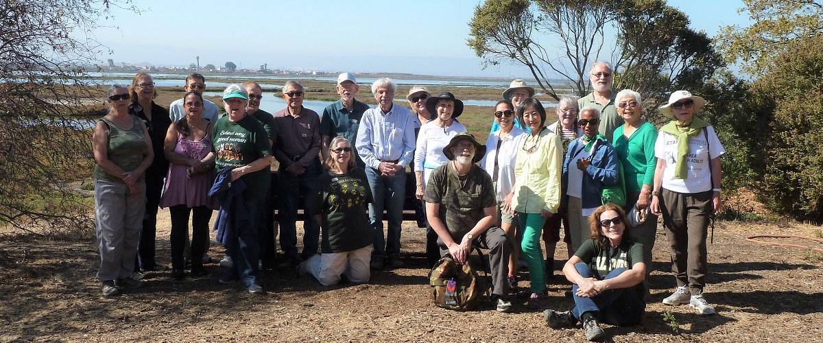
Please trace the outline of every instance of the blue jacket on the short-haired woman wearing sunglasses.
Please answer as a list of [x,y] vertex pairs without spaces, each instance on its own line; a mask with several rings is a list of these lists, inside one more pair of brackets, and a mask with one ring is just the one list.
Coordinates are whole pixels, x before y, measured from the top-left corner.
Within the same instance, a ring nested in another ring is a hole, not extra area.
[[[575,139],[569,145],[569,150],[566,151],[565,159],[563,160],[563,177],[560,183],[563,185],[563,196],[569,186],[569,168],[577,168],[576,157],[583,148],[584,144],[579,139]],[[583,208],[593,208],[602,205],[603,185],[615,185],[619,181],[618,167],[617,167],[617,152],[608,141],[597,140],[592,146],[591,151],[592,164],[586,169],[583,174],[583,187],[581,195],[583,198]],[[574,160],[574,161],[573,161]],[[570,166],[571,165],[571,166]]]

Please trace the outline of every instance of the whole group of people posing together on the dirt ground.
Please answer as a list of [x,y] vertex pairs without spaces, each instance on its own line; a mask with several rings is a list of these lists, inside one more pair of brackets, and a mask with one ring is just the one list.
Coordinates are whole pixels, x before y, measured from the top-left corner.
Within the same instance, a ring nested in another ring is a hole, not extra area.
[[[223,95],[226,115],[219,117],[216,104],[202,98],[202,75],[188,76],[184,98],[166,111],[151,100],[151,76],[138,73],[131,88],[109,90],[109,114],[95,127],[103,293],[139,286],[135,271],[161,269],[154,261],[158,206],[170,208],[175,279],[186,274],[187,260],[193,276],[205,274],[207,223],[220,209],[217,241],[231,266],[220,281],[241,280],[249,292],[261,293],[259,266],[272,263],[275,253],[272,189],[285,257],[278,267],[296,268],[323,285],[342,276],[366,282],[370,270],[404,265],[409,166],[425,210],[427,262],[449,254],[462,264],[472,246],[490,249],[491,294],[501,312],[512,310],[521,259],[529,271],[521,294],[529,308],[542,307],[562,227],[569,251],[562,271],[574,284],[576,306],[546,310],[549,326],[583,322],[587,337],[598,340],[598,321],[638,322],[649,294],[657,216],[663,216],[677,279],[663,303],[714,313],[702,296],[705,239],[709,215],[720,206],[725,151],[713,127],[695,116],[706,102],[686,90],[673,92],[659,109],[671,122],[658,132],[641,116],[639,93],[615,93],[611,77],[611,65],[595,63],[592,94],[560,99],[556,118],[548,118],[532,87],[513,81],[495,105],[484,145],[458,121],[463,102],[455,95],[413,86],[410,110],[394,104],[398,86],[388,78],[371,85],[377,106],[370,108],[355,99],[355,76],[342,73],[340,100],[322,118],[303,107],[299,82],[286,82],[286,109],[274,114],[259,109],[258,84],[231,85]],[[279,164],[274,186],[272,159]],[[625,185],[622,206],[602,197],[616,185]]]

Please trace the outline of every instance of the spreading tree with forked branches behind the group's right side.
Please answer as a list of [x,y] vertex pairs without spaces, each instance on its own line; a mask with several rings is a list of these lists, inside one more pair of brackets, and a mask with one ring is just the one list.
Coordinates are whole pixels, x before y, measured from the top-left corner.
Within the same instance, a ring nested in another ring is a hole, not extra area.
[[[611,59],[615,89],[633,88],[644,106],[657,107],[676,88],[695,88],[722,66],[704,33],[662,0],[488,0],[475,9],[468,45],[486,66],[501,62],[528,67],[537,86],[555,100],[588,94],[588,70]],[[607,37],[616,32],[616,47]],[[556,89],[560,76],[571,90]]]

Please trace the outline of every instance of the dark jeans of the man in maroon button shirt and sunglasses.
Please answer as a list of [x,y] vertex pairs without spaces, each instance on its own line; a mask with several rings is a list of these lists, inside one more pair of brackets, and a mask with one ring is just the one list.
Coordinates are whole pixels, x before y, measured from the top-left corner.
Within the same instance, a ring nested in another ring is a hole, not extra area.
[[[280,246],[286,258],[297,257],[297,208],[300,206],[300,196],[305,199],[314,192],[314,183],[321,173],[320,160],[314,160],[305,173],[294,176],[281,168],[277,172],[277,199],[280,201],[278,220],[280,222]],[[314,216],[304,216],[303,219],[303,257],[309,258],[318,252],[320,239],[320,224]]]

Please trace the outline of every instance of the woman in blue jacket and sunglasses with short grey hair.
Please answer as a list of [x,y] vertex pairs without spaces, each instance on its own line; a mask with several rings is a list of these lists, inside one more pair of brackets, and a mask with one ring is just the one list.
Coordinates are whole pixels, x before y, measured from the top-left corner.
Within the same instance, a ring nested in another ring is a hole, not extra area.
[[588,216],[602,205],[605,185],[614,185],[620,180],[617,153],[606,137],[597,132],[600,110],[584,107],[578,123],[583,136],[569,144],[563,160],[572,251],[577,251],[588,235]]

